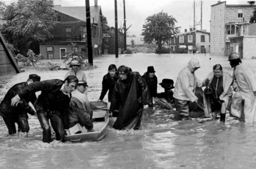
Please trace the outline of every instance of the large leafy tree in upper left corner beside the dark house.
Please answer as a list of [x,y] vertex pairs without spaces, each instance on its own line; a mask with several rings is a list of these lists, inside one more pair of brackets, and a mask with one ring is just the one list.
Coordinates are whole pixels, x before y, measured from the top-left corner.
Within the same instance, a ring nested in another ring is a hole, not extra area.
[[[56,22],[53,0],[19,0],[10,5],[0,4],[2,20],[1,32],[9,43],[25,54],[34,44],[53,37],[50,30]],[[33,49],[33,51],[37,51]]]

